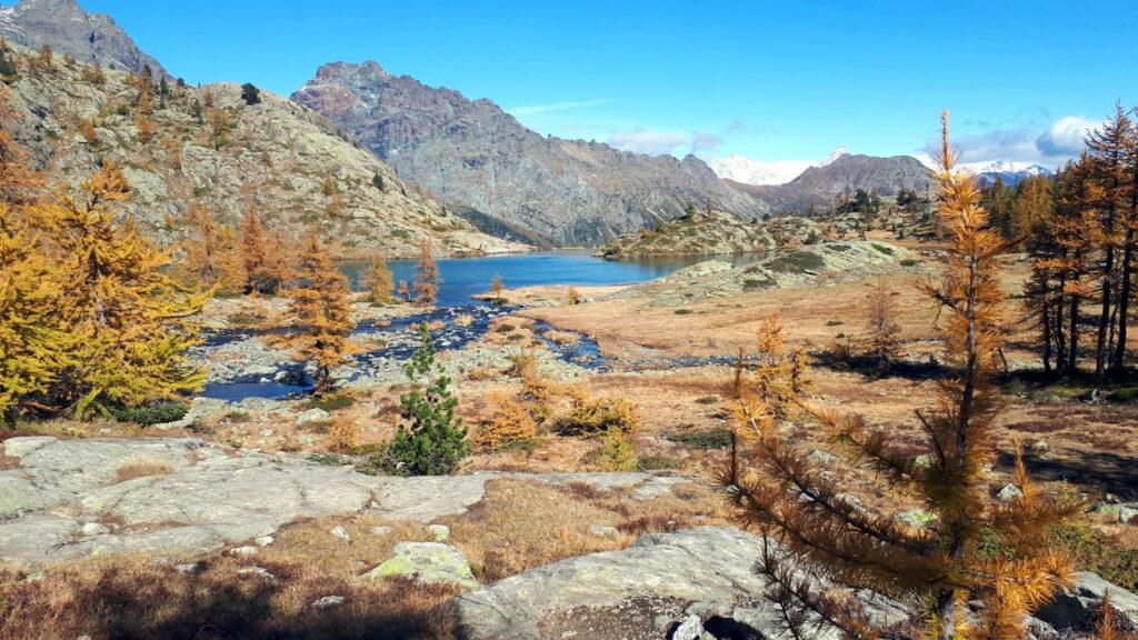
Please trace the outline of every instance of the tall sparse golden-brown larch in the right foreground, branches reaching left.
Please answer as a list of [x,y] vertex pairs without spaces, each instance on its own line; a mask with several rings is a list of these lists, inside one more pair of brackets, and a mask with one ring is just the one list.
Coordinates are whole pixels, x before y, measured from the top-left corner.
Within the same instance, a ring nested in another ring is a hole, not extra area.
[[[923,456],[915,459],[860,416],[810,404],[786,368],[775,370],[773,380],[757,377],[740,403],[743,428],[720,482],[742,522],[762,527],[785,547],[768,544],[757,568],[769,580],[767,597],[794,638],[810,637],[806,630],[813,624],[838,627],[850,638],[880,637],[882,630],[859,600],[830,586],[844,584],[916,596],[927,606],[927,638],[1020,639],[1028,615],[1071,577],[1071,563],[1048,545],[1047,530],[1081,503],[1046,495],[1022,460],[1015,469],[1021,495],[1000,502],[988,493],[996,457],[992,422],[1000,407],[991,378],[1001,339],[1004,295],[997,276],[1005,246],[979,206],[974,178],[956,170],[947,112],[942,121],[934,178],[948,265],[942,278],[918,287],[947,312],[943,344],[956,374],[938,381],[935,407],[917,412]],[[770,351],[760,345],[760,352]],[[867,465],[897,489],[898,502],[918,498],[927,524],[912,526],[849,500],[838,479],[783,436],[782,408],[799,408],[816,419],[851,463]],[[986,536],[1009,551],[986,553]],[[972,601],[982,604],[974,615]]]

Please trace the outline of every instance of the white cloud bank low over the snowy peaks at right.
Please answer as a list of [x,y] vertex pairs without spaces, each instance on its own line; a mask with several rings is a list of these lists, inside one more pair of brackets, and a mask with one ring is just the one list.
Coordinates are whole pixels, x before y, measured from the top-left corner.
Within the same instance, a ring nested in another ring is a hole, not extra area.
[[[984,133],[955,137],[953,145],[960,153],[960,161],[1024,162],[1055,169],[1078,156],[1083,148],[1087,131],[1102,124],[1081,115],[1063,116],[1042,130],[1032,128],[993,129]],[[925,153],[934,153],[939,140],[930,140]]]

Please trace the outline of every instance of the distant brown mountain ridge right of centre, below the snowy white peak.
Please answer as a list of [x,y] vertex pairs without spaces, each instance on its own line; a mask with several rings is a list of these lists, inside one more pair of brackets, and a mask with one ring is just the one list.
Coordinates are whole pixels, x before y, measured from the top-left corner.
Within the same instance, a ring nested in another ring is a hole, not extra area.
[[824,166],[811,166],[785,184],[744,184],[725,180],[775,213],[801,213],[815,205],[830,206],[840,194],[858,189],[892,196],[899,189],[924,192],[932,187],[929,170],[910,156],[888,158],[842,155]]

